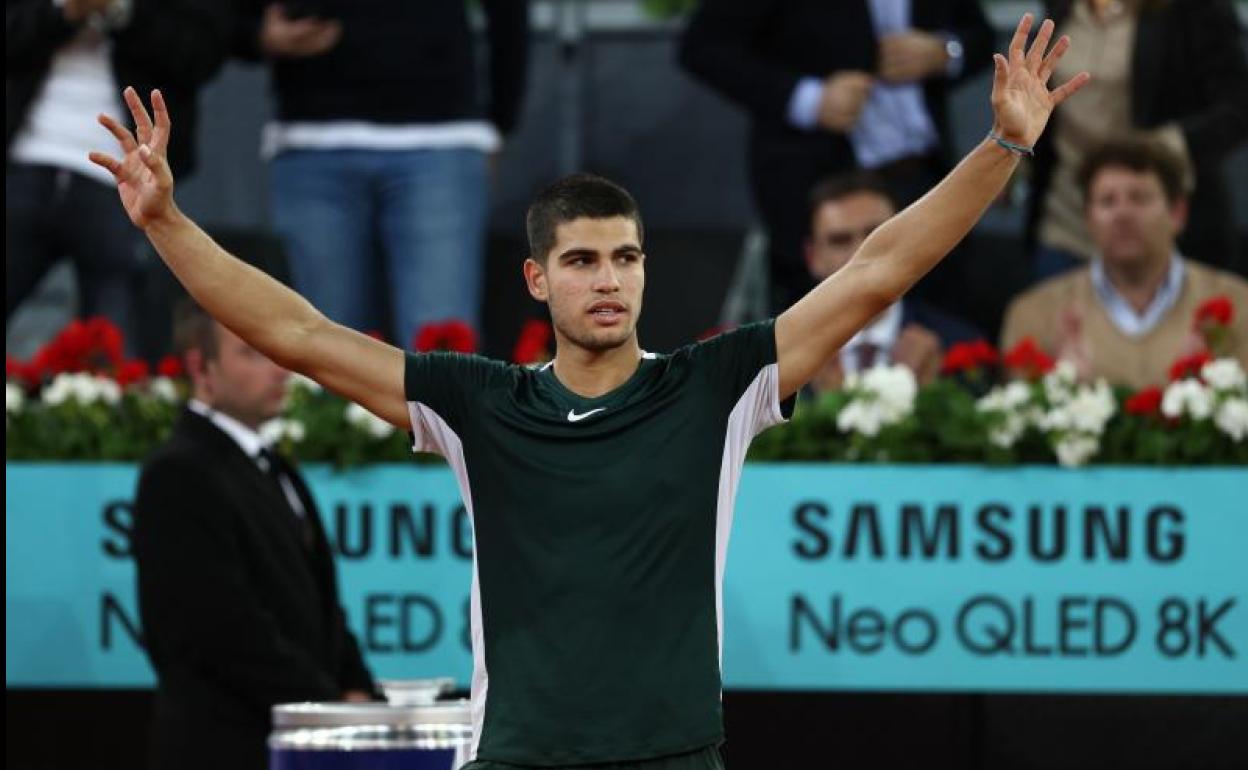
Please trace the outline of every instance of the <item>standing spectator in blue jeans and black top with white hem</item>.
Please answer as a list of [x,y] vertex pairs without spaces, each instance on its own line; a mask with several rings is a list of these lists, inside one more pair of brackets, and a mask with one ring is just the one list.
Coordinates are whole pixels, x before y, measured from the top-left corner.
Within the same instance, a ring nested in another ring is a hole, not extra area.
[[263,151],[296,288],[404,346],[432,321],[480,329],[489,167],[520,109],[527,0],[480,2],[488,100],[464,0],[238,1],[238,51],[272,61]]

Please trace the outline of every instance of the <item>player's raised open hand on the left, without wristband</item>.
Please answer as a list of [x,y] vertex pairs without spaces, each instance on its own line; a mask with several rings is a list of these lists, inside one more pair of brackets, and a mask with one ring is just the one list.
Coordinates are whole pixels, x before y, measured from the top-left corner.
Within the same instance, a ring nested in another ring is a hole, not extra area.
[[155,125],[139,94],[127,87],[124,92],[126,106],[135,119],[135,135],[107,115],[100,115],[100,125],[109,130],[121,145],[122,157],[117,160],[104,152],[91,152],[91,162],[102,166],[117,180],[117,193],[130,221],[137,227],[147,227],[171,218],[173,206],[173,173],[168,168],[168,107],[161,92],[152,91]]

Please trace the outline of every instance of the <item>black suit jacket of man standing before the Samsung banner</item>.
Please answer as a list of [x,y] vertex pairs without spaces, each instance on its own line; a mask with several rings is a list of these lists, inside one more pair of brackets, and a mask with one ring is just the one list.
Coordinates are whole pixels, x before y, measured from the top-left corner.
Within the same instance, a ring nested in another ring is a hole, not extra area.
[[275,704],[373,691],[338,604],[328,542],[211,421],[183,412],[135,502],[139,610],[158,680],[152,770],[262,770]]

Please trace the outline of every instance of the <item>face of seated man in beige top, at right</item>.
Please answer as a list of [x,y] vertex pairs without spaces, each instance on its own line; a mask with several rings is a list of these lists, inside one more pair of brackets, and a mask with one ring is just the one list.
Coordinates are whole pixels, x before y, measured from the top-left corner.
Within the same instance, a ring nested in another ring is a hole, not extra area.
[[1156,173],[1106,167],[1088,185],[1088,232],[1107,263],[1166,260],[1183,228],[1186,205],[1169,203]]

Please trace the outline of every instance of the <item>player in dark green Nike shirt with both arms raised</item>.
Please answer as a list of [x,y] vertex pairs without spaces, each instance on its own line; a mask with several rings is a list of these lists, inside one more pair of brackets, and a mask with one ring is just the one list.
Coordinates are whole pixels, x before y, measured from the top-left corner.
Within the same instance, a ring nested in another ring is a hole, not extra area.
[[1087,80],[1048,89],[1068,46],[1025,16],[995,56],[992,134],[774,321],[671,354],[636,338],[641,218],[617,185],[560,180],[528,213],[529,293],[550,308],[540,369],[411,354],[328,321],[233,258],[173,203],[170,116],[126,91],[111,171],[134,223],[213,317],[280,364],[443,454],[473,520],[474,770],[628,763],[719,768],[724,558],[745,451],[790,398],[971,228]]

